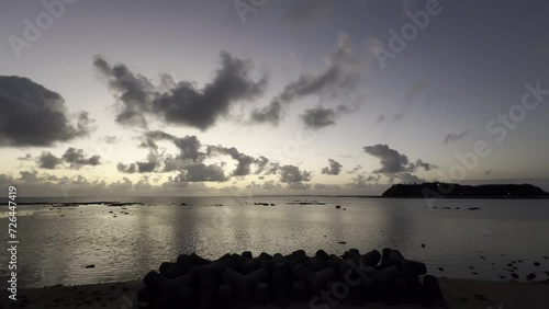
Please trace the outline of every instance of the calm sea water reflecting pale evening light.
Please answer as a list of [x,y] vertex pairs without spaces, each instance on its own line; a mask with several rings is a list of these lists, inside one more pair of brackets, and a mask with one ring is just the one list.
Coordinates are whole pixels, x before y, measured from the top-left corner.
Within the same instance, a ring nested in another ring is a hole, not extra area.
[[[295,199],[321,199],[326,205],[287,204]],[[385,247],[426,262],[429,273],[438,276],[505,281],[511,279],[509,272],[504,270],[507,264],[522,260],[523,263],[516,264],[519,279],[531,272],[537,279],[548,278],[544,272],[549,271],[549,261],[544,256],[549,255],[549,199],[447,199],[430,205],[437,208],[429,207],[424,199],[350,197],[102,201],[141,202],[145,206],[124,206],[126,209],[102,205],[75,206],[75,209],[19,206],[20,286],[135,279],[157,270],[164,261],[175,261],[178,254],[191,252],[216,259],[227,252],[272,254],[304,249],[314,254],[324,249],[343,254],[350,248],[366,252]],[[276,206],[253,205],[259,202]],[[192,207],[180,206],[181,203]],[[335,205],[346,210],[335,209]],[[472,211],[469,207],[481,209]],[[0,214],[0,227],[7,239],[5,206]],[[339,244],[340,241],[346,244]],[[7,265],[9,256],[5,250],[2,252],[0,262]],[[534,262],[541,265],[534,266]],[[96,267],[86,268],[88,264]],[[444,267],[444,272],[438,267]],[[7,267],[0,270],[0,284],[4,285]]]

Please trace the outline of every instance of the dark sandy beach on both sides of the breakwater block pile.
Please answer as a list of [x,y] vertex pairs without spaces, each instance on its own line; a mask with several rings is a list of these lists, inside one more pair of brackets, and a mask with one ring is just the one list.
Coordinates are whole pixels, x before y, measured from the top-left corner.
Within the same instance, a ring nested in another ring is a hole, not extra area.
[[[500,309],[547,308],[549,284],[517,282],[485,282],[472,279],[440,278],[440,286],[448,308]],[[18,301],[2,297],[0,308],[132,308],[133,295],[143,286],[141,281],[104,283],[80,286],[54,286],[22,289]],[[274,309],[274,306],[260,308]],[[309,304],[294,304],[290,308],[309,308]],[[340,305],[338,308],[357,308]],[[417,305],[385,306],[366,304],[363,308],[424,308]]]

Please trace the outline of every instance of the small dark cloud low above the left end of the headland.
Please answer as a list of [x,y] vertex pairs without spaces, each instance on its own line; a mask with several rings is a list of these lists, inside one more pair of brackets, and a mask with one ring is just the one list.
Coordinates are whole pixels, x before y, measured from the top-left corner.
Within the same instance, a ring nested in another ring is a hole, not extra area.
[[417,168],[423,168],[429,171],[436,165],[424,162],[418,159],[416,163],[411,163],[405,154],[401,154],[399,151],[391,149],[388,145],[377,144],[373,146],[363,147],[366,153],[378,158],[381,163],[381,168],[374,170],[374,173],[385,173],[395,174],[400,172],[414,172]]

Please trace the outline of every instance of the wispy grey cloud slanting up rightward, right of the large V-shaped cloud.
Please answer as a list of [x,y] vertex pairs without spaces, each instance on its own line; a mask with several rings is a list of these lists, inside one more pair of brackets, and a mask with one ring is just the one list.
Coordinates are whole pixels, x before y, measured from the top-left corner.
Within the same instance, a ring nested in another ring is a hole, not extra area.
[[[310,95],[318,95],[321,101],[343,102],[337,108],[316,106],[307,110],[301,117],[305,125],[312,124],[312,127],[332,125],[335,123],[335,116],[357,110],[360,100],[355,98],[355,91],[362,81],[357,67],[365,62],[365,58],[354,53],[348,35],[338,36],[336,50],[326,57],[326,61],[328,65],[325,70],[316,75],[300,75],[296,80],[288,83],[269,105],[254,110],[251,122],[276,125],[283,116],[284,105]],[[347,100],[348,98],[351,99]],[[349,104],[351,106],[348,106]]]

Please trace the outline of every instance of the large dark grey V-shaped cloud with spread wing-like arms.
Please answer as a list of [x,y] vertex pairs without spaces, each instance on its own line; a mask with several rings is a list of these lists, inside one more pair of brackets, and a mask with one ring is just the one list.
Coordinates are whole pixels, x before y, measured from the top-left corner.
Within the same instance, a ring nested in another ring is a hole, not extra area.
[[226,116],[233,104],[256,99],[267,87],[265,76],[257,81],[250,79],[250,60],[223,50],[220,57],[221,68],[202,89],[197,89],[194,82],[176,83],[165,75],[161,88],[167,90],[161,91],[124,65],[111,66],[101,56],[96,56],[93,65],[122,103],[116,115],[120,124],[146,127],[150,116],[168,124],[206,130]]

